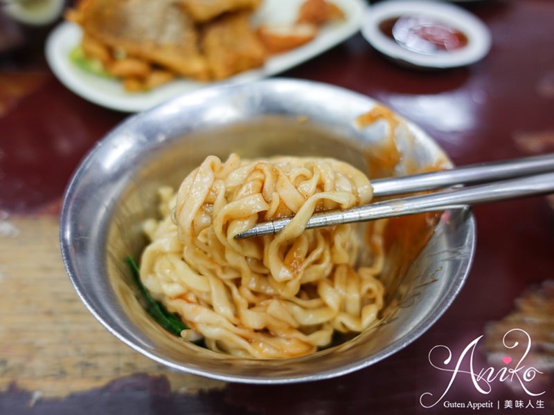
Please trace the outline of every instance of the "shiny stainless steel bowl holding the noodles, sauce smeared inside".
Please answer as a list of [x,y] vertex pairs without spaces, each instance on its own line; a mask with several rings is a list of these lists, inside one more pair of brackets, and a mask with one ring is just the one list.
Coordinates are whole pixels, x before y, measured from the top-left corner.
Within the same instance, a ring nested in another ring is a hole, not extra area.
[[[157,214],[157,188],[178,186],[208,154],[225,158],[294,154],[333,156],[367,169],[383,148],[384,124],[362,128],[357,116],[375,102],[335,86],[273,79],[214,86],[128,118],[90,152],[66,190],[60,225],[64,264],[89,311],[118,339],[177,371],[221,380],[283,383],[330,378],[372,365],[413,342],[460,291],[474,255],[469,210],[440,216],[420,255],[405,263],[388,252],[389,287],[381,324],[303,358],[253,360],[208,351],[166,333],[141,307],[124,263],[140,257],[141,223]],[[403,162],[449,163],[422,130],[396,131]],[[381,146],[381,147],[380,147]],[[406,161],[409,160],[409,161]]]

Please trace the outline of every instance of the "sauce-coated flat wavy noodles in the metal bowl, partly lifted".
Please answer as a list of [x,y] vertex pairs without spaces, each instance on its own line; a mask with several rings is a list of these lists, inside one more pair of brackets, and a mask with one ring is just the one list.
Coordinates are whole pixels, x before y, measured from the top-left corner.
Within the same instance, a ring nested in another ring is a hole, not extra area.
[[[190,327],[181,336],[202,335],[209,349],[253,358],[313,353],[334,331],[377,321],[386,221],[305,224],[316,210],[368,203],[372,191],[364,174],[331,158],[208,156],[177,194],[160,190],[163,219],[145,223],[151,243],[141,280]],[[276,235],[234,239],[293,214]]]

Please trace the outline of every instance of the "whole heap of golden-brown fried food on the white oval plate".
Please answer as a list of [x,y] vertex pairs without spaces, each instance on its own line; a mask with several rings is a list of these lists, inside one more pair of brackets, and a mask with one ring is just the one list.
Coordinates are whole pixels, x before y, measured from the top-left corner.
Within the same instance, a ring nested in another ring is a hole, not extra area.
[[137,92],[175,77],[222,80],[258,68],[268,55],[306,44],[326,21],[343,18],[333,3],[305,0],[296,21],[256,29],[251,17],[261,1],[80,0],[66,19],[83,32],[73,55]]

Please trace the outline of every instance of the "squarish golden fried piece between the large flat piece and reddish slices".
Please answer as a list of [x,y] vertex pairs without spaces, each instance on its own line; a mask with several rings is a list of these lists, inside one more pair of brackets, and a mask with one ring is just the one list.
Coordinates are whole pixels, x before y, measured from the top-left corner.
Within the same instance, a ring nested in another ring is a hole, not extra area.
[[202,50],[215,80],[264,63],[265,48],[250,28],[250,15],[249,12],[237,12],[206,25]]

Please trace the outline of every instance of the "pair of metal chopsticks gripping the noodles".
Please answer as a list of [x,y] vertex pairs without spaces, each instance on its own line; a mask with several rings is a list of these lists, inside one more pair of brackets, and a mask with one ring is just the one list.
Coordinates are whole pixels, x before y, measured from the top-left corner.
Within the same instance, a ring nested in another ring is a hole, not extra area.
[[[467,205],[552,193],[554,192],[554,154],[470,165],[440,172],[386,178],[371,182],[375,197],[437,190],[472,183],[487,184],[389,199],[348,210],[319,212],[312,215],[306,229],[435,210],[464,208]],[[290,221],[291,218],[281,218],[258,223],[246,232],[236,235],[235,238],[244,239],[274,234],[285,228]]]

